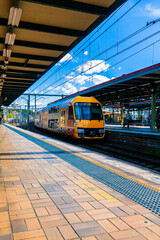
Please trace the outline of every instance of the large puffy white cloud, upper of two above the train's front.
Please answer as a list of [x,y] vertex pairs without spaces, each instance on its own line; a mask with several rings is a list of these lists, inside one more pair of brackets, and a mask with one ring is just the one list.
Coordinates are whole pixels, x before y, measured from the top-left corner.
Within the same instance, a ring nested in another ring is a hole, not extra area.
[[85,72],[85,74],[93,74],[105,72],[110,67],[103,60],[89,60],[77,68],[78,72]]

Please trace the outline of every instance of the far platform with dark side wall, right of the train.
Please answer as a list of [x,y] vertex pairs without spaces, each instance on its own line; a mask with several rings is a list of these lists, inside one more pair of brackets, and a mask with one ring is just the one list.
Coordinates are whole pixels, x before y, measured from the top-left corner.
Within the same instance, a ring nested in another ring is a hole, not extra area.
[[[142,157],[152,157],[157,161],[160,156],[160,132],[152,132],[150,126],[105,125],[106,142],[122,152],[139,153]],[[160,169],[160,167],[159,167]]]

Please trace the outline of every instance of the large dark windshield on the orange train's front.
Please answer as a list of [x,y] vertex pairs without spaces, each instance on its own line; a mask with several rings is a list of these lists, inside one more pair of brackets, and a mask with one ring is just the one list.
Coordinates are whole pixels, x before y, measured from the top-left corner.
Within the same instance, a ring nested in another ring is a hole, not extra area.
[[99,103],[77,102],[74,105],[76,119],[103,120],[102,109]]

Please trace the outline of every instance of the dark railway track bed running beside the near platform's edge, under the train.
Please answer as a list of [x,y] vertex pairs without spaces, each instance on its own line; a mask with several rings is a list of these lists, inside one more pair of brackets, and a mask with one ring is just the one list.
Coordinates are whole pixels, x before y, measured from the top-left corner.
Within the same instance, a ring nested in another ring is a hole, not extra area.
[[34,126],[31,126],[29,130],[39,134],[42,134],[43,132],[45,136],[54,137],[58,140],[65,141],[76,146],[90,149],[90,150],[93,150],[102,154],[106,154],[115,158],[120,158],[127,162],[131,162],[133,164],[152,169],[158,173],[160,172],[160,162],[158,158],[149,156],[147,154],[140,154],[139,152],[136,152],[136,151],[127,150],[125,146],[122,146],[119,144],[107,143],[106,138],[98,141],[85,140],[85,143],[84,143],[84,140],[79,141],[75,139],[65,138],[60,134],[52,133],[46,130],[39,130]]

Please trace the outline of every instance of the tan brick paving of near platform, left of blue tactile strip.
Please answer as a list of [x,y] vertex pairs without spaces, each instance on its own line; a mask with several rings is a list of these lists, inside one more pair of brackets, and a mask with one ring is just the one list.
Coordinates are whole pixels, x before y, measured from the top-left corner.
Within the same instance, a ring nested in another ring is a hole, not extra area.
[[0,240],[160,239],[160,218],[0,126]]

